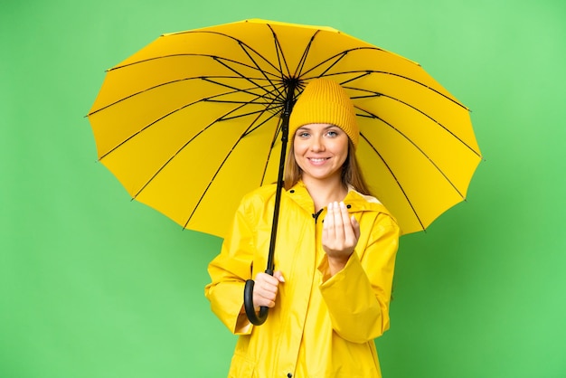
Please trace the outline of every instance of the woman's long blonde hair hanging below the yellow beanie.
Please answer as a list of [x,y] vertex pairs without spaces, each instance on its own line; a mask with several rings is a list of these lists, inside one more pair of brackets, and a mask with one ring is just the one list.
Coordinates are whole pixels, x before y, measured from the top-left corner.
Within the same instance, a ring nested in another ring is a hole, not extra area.
[[[285,176],[284,176],[284,187],[285,190],[289,190],[303,175],[303,171],[295,160],[295,148],[293,146],[294,136],[290,138],[289,141],[290,148],[288,149],[287,159],[285,161]],[[368,189],[365,180],[363,179],[362,170],[358,165],[358,161],[355,158],[355,146],[350,138],[348,138],[348,156],[342,165],[342,173],[340,175],[342,179],[342,184],[344,188],[352,185],[354,189],[365,195],[373,195]]]

